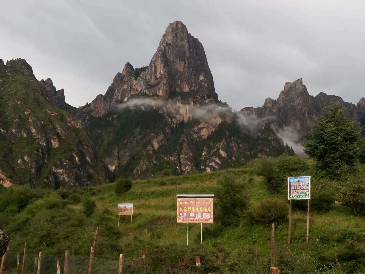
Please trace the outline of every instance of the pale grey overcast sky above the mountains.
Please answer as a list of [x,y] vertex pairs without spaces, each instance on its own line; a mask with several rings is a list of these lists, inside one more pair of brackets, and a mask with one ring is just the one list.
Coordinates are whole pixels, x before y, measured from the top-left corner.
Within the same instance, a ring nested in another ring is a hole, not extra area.
[[0,11],[0,58],[26,59],[73,106],[105,94],[127,61],[149,64],[175,20],[203,44],[219,98],[237,110],[300,77],[311,95],[365,96],[362,0],[0,0]]

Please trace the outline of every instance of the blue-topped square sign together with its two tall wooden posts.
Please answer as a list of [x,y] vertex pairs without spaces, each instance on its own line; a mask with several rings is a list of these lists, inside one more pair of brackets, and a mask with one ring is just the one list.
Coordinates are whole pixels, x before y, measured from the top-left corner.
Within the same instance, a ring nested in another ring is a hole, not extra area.
[[289,231],[288,244],[291,243],[292,200],[308,200],[307,243],[309,242],[309,201],[311,199],[311,176],[288,177]]

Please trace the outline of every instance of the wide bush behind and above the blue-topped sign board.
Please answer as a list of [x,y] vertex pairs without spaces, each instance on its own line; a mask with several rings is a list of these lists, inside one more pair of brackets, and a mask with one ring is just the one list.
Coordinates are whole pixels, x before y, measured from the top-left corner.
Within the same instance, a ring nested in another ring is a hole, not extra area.
[[288,177],[311,175],[312,161],[300,156],[282,155],[276,159],[258,159],[251,163],[252,171],[264,176],[269,188],[287,193]]

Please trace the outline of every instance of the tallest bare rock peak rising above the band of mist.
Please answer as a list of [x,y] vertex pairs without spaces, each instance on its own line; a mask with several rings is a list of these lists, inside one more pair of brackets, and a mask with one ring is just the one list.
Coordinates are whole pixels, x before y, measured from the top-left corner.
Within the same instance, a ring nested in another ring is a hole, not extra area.
[[84,123],[105,115],[114,104],[141,97],[196,105],[218,101],[203,45],[182,22],[169,24],[148,66],[133,68],[127,62],[105,95],[80,107],[76,117]]

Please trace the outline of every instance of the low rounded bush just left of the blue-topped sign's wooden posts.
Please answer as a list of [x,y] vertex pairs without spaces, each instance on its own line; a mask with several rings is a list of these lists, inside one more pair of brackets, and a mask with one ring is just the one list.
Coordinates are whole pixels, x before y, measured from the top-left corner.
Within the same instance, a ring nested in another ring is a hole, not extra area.
[[287,219],[288,212],[287,201],[278,198],[266,198],[260,203],[250,206],[249,217],[254,222],[261,224],[281,223]]

